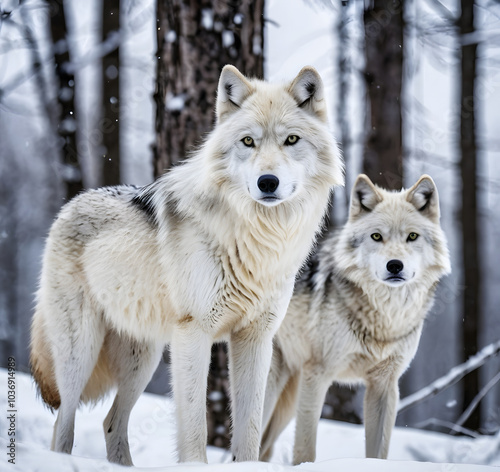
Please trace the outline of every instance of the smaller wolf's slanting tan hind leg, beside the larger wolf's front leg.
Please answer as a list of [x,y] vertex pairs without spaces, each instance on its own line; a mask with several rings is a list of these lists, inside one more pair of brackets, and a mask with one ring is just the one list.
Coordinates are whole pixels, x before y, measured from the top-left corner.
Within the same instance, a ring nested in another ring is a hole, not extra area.
[[260,460],[269,461],[273,455],[273,447],[276,439],[285,429],[295,414],[297,403],[297,391],[299,386],[300,373],[296,373],[290,377],[285,376],[287,383],[282,388],[281,396],[279,397],[270,420],[262,435],[262,443],[260,450]]

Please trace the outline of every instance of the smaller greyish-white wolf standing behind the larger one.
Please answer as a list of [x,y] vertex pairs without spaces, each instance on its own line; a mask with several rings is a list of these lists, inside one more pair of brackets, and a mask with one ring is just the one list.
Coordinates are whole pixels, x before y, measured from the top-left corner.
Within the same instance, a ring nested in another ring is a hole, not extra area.
[[297,412],[293,461],[314,461],[333,381],[366,384],[366,456],[387,457],[398,379],[415,355],[437,283],[450,272],[439,214],[429,176],[400,192],[358,177],[348,222],[309,259],[275,337],[263,460]]

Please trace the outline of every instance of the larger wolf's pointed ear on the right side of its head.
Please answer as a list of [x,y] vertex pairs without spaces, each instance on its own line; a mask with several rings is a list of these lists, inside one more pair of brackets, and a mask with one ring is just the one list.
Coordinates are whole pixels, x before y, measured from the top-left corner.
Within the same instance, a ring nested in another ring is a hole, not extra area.
[[304,67],[290,84],[288,91],[300,108],[315,114],[322,121],[327,121],[323,81],[316,69]]

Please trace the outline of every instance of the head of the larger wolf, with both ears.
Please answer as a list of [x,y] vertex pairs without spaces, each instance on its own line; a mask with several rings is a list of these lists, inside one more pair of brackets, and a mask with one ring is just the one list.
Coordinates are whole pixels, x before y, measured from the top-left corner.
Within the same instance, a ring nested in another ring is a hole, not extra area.
[[[217,179],[238,200],[276,206],[319,186],[343,184],[337,145],[328,130],[323,84],[311,67],[288,84],[222,70],[217,91]],[[243,199],[241,197],[244,197]]]

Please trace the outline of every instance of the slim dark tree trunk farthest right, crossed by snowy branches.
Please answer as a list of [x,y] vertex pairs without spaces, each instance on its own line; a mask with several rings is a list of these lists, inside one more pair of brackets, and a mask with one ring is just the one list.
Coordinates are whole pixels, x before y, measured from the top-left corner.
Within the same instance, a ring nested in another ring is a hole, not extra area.
[[[459,19],[460,38],[474,32],[474,0],[461,0]],[[478,206],[477,206],[477,147],[475,127],[474,84],[476,80],[477,44],[462,44],[460,78],[460,173],[462,178],[462,258],[463,258],[463,346],[464,360],[478,350],[480,305],[480,271],[478,253]],[[479,392],[479,371],[471,372],[464,381],[463,410]],[[477,430],[480,426],[479,411],[465,423]]]

